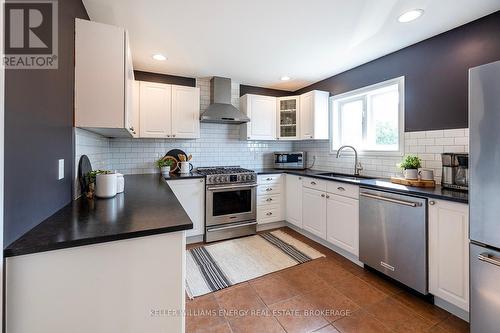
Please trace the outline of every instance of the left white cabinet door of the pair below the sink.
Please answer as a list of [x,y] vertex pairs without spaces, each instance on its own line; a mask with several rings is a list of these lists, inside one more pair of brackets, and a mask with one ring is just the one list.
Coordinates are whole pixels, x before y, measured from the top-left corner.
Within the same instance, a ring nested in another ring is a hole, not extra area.
[[302,225],[310,233],[326,239],[326,194],[302,188]]

